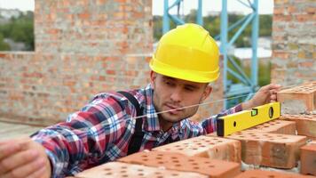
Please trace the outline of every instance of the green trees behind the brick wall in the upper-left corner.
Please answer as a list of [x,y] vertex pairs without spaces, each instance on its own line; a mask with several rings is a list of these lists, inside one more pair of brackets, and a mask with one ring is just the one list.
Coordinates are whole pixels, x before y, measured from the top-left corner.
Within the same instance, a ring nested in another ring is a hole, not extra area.
[[[34,13],[21,12],[17,18],[0,25],[0,35],[11,38],[15,42],[26,44],[26,50],[34,51]],[[6,50],[0,46],[0,50]]]

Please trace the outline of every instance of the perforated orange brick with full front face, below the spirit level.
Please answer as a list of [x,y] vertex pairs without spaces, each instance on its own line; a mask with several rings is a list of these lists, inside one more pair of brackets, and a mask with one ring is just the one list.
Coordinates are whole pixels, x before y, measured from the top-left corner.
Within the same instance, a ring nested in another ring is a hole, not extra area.
[[241,141],[241,159],[246,164],[293,168],[299,159],[299,148],[307,138],[289,134],[265,134],[243,131],[228,136]]

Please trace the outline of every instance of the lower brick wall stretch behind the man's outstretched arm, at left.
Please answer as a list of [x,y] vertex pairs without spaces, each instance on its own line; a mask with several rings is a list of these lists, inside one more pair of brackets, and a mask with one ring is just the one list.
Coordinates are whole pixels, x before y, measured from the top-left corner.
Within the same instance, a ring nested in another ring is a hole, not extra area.
[[0,117],[51,125],[96,93],[145,85],[147,61],[141,55],[1,54]]

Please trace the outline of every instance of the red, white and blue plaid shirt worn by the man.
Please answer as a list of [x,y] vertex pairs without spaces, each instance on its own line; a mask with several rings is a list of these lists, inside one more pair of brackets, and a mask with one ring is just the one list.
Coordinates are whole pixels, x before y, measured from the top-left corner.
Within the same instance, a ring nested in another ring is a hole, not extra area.
[[[216,131],[216,116],[201,123],[185,118],[163,132],[153,104],[153,88],[130,91],[143,109],[143,142],[140,150],[184,140]],[[227,115],[241,111],[241,105],[227,109]],[[67,122],[40,130],[32,139],[45,147],[51,160],[52,177],[82,172],[127,155],[136,124],[135,107],[120,93],[99,93],[82,110],[67,117]]]

